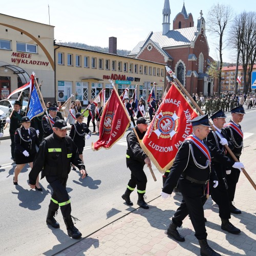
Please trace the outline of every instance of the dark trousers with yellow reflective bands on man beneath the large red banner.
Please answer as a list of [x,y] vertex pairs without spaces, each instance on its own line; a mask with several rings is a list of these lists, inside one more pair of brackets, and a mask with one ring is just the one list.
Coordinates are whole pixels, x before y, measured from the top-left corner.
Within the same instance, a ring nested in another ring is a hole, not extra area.
[[146,190],[146,175],[143,170],[142,164],[138,162],[132,162],[131,160],[126,160],[127,167],[131,170],[131,179],[128,182],[128,186],[135,188],[137,186],[137,191],[139,194],[145,194]]

